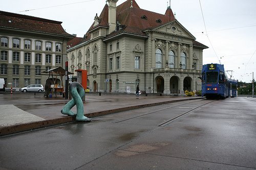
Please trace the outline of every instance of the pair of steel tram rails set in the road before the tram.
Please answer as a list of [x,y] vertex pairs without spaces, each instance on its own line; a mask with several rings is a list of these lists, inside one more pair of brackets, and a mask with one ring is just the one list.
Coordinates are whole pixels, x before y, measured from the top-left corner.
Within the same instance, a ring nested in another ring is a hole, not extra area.
[[[184,105],[187,105],[187,104],[192,104],[192,103],[196,103],[196,102],[202,102],[204,100],[205,99],[202,99],[202,100],[199,100],[199,101],[193,101],[193,102],[186,102],[186,103],[178,104],[178,105],[175,105],[175,106],[170,106],[170,107],[154,110],[154,111],[147,112],[147,113],[144,113],[144,114],[139,114],[139,115],[135,115],[135,116],[132,116],[132,117],[127,117],[127,118],[119,119],[119,120],[114,121],[113,123],[125,122],[126,120],[131,120],[131,119],[139,118],[139,117],[142,117],[142,116],[145,116],[145,115],[154,114],[154,113],[157,113],[157,112],[160,112],[160,111],[164,111],[164,110],[171,109],[171,108],[176,108],[176,107],[179,107],[179,106],[184,106]],[[214,102],[214,101],[216,101],[216,100],[212,100],[212,101],[209,101],[207,103],[201,104],[201,105],[199,105],[197,107],[194,107],[194,108],[192,108],[192,109],[190,109],[188,111],[185,111],[185,112],[183,112],[183,113],[181,113],[181,114],[179,114],[179,115],[177,115],[177,116],[175,116],[173,118],[170,118],[170,119],[164,121],[163,123],[161,123],[161,124],[159,124],[157,126],[158,127],[164,127],[167,124],[174,122],[176,119],[179,119],[179,118],[187,115],[189,112],[191,112],[193,110],[196,110],[196,109],[198,109],[200,107],[203,107],[204,105],[207,105],[207,104],[209,104],[211,102]]]

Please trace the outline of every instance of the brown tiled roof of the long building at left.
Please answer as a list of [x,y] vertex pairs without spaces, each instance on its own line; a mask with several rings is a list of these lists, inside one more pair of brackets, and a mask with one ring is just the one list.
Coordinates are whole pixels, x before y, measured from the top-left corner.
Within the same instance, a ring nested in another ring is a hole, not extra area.
[[0,11],[0,28],[19,31],[30,31],[44,34],[54,34],[74,37],[68,34],[61,26],[60,21],[38,18],[28,15]]

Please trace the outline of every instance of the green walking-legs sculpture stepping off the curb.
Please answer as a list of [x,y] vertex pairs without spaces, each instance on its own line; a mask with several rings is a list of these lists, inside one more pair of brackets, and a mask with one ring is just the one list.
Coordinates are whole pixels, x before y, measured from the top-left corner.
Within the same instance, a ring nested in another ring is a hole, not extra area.
[[[70,93],[72,95],[72,100],[67,103],[61,110],[62,114],[67,114],[70,116],[76,115],[76,120],[81,122],[90,122],[92,119],[83,115],[83,103],[82,99],[85,95],[84,89],[80,83],[72,82],[69,86]],[[76,105],[77,113],[71,111],[71,109]]]

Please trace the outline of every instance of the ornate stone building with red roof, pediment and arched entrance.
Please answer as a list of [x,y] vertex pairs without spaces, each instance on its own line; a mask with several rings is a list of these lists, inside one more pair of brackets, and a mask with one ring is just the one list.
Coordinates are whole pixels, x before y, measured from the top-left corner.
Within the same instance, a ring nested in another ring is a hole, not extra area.
[[78,44],[68,50],[69,71],[88,70],[91,91],[184,94],[201,89],[203,50],[175,19],[141,9],[136,1],[108,0]]

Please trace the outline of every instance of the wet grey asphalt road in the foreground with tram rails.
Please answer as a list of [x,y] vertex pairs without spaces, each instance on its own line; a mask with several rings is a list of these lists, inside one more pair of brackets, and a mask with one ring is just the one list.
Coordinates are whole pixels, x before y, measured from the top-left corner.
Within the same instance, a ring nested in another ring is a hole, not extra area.
[[256,169],[255,102],[170,103],[4,136],[0,169]]

